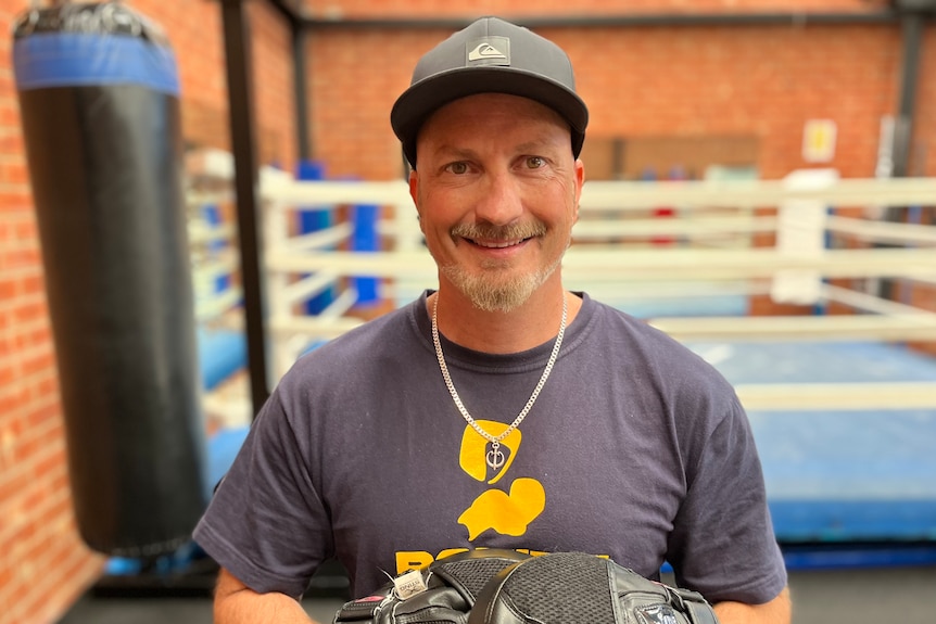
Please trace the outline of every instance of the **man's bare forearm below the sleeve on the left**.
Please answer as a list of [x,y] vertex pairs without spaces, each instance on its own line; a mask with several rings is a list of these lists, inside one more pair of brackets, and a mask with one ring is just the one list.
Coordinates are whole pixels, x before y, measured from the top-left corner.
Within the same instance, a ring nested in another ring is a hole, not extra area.
[[257,594],[222,568],[214,601],[215,624],[314,624],[295,598]]

